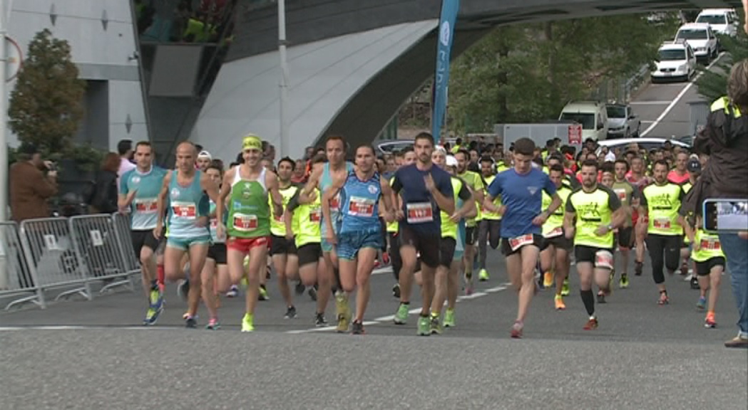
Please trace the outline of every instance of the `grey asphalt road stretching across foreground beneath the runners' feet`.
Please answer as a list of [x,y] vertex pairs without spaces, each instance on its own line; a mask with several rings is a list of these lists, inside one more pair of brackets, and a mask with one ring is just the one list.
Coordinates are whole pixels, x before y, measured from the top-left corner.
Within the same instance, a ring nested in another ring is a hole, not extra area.
[[252,334],[239,332],[243,298],[224,299],[221,330],[184,329],[173,285],[150,328],[140,326],[139,291],[3,313],[0,408],[747,408],[748,350],[722,345],[737,320],[727,276],[717,329],[703,327],[698,292],[679,276],[666,279],[671,304],[658,306],[646,267],[598,305],[600,327],[586,332],[572,268],[567,310],[541,291],[525,338],[512,340],[516,296],[497,252],[488,266],[491,279],[461,296],[456,329],[429,338],[415,335],[415,314],[391,323],[391,273],[373,276],[363,336],[315,329],[306,295],[295,302],[298,318],[283,319],[274,281]]

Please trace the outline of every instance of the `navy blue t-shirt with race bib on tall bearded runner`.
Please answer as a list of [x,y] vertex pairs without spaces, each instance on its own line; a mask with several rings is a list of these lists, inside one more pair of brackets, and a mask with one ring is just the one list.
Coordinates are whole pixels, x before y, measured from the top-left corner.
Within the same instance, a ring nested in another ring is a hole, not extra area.
[[427,171],[419,170],[415,164],[400,168],[395,173],[392,189],[402,196],[402,213],[405,217],[400,221],[400,226],[408,226],[420,233],[440,234],[439,207],[423,181],[428,173],[442,195],[448,199],[454,197],[450,174],[435,165]]

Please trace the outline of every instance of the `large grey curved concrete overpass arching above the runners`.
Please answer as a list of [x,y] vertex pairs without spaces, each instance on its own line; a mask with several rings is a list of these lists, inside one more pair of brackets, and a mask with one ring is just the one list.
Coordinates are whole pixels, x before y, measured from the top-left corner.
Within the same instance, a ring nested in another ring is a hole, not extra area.
[[[240,0],[240,4],[242,0]],[[251,7],[191,132],[214,156],[235,158],[254,132],[279,145],[277,8]],[[434,71],[441,2],[435,0],[289,0],[289,139],[303,154],[326,134],[352,146],[372,141]],[[708,7],[720,0],[462,0],[453,58],[497,25]],[[279,153],[280,154],[280,153]]]

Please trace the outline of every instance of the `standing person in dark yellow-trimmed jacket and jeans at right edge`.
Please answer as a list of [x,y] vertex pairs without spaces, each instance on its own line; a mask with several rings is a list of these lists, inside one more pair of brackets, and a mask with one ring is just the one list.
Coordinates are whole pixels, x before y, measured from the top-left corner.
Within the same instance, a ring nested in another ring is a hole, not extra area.
[[[693,141],[696,153],[710,159],[685,199],[689,214],[702,214],[705,199],[748,199],[748,60],[732,66],[727,94],[711,105],[706,126]],[[748,348],[748,235],[719,236],[739,315],[738,336],[725,346]]]

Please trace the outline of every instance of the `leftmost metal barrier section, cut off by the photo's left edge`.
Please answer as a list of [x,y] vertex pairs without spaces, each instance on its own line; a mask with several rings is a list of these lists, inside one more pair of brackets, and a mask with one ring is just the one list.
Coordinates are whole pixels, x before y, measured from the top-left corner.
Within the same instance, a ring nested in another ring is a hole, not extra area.
[[5,310],[25,302],[43,307],[44,296],[36,283],[28,268],[18,225],[0,223],[0,297],[12,299]]

